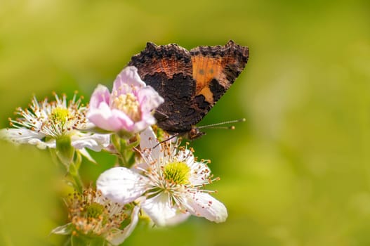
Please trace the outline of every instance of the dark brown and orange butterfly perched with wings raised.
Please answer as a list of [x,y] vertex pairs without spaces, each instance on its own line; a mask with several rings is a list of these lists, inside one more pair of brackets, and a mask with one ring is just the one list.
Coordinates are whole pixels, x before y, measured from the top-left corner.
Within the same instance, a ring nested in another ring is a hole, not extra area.
[[192,140],[204,135],[196,124],[244,70],[249,48],[230,40],[224,46],[147,43],[128,65],[164,98],[154,113],[157,125],[171,135]]

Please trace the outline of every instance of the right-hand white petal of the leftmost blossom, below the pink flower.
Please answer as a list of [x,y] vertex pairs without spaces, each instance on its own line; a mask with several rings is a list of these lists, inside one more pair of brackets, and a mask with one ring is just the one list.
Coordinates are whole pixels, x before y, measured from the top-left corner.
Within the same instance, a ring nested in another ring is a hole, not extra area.
[[72,136],[71,145],[74,148],[89,148],[100,151],[110,144],[110,134],[85,134],[84,136]]

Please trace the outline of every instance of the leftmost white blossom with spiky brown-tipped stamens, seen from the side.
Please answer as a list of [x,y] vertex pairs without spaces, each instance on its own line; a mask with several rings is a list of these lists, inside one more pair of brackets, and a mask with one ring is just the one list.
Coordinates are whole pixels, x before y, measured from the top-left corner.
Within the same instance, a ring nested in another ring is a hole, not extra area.
[[[86,106],[77,99],[76,93],[72,101],[67,102],[65,95],[60,98],[57,94],[55,101],[37,101],[32,98],[29,108],[18,108],[17,119],[10,119],[11,128],[1,129],[0,138],[17,144],[37,145],[38,148],[56,148],[60,138],[70,138],[70,145],[81,150],[89,159],[85,148],[100,151],[110,143],[108,134],[93,134],[83,132],[91,127],[86,118]],[[82,130],[82,131],[81,131]]]

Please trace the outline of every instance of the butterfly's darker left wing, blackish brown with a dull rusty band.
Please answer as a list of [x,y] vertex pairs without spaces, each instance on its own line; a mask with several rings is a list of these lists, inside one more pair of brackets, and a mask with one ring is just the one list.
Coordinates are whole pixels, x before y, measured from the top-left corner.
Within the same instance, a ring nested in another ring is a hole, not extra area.
[[185,133],[206,113],[199,111],[193,101],[196,85],[192,78],[191,56],[185,48],[176,44],[148,43],[128,65],[138,67],[141,79],[164,98],[164,103],[157,108],[159,113],[154,115],[161,129]]

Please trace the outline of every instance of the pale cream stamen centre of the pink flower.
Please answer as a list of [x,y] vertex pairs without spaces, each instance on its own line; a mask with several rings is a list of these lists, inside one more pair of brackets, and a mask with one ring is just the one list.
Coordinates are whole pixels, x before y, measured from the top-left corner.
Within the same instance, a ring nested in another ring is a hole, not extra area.
[[140,105],[133,93],[121,94],[114,98],[112,106],[126,113],[134,122],[138,122],[141,119]]

